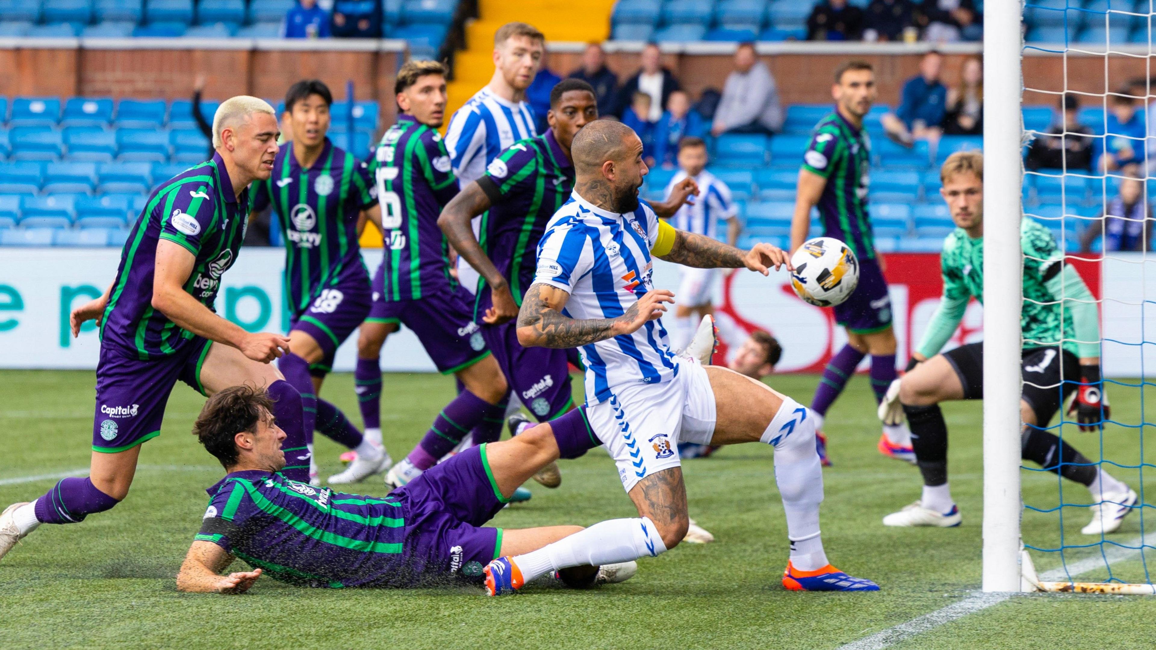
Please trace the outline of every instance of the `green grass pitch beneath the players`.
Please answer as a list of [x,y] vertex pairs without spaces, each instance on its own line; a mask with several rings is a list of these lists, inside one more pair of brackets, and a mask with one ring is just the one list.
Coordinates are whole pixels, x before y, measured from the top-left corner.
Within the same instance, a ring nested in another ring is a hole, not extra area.
[[[815,382],[777,376],[771,383],[806,404]],[[91,372],[0,372],[0,507],[34,498],[54,482],[25,477],[88,466],[92,386]],[[417,442],[452,391],[452,381],[440,376],[385,377],[383,424],[394,458]],[[1139,423],[1140,391],[1111,393],[1116,419]],[[350,375],[331,376],[323,394],[358,421]],[[262,578],[242,597],[179,593],[173,576],[205,510],[203,490],[222,475],[188,433],[202,401],[183,385],[175,389],[163,434],[146,444],[121,505],[80,525],[42,526],[0,562],[0,648],[825,649],[956,603],[979,585],[980,405],[944,407],[963,525],[885,529],[880,519],[914,500],[920,481],[913,466],[875,451],[874,400],[866,378],[857,378],[828,416],[835,466],[824,471],[823,539],[836,566],[875,579],[879,593],[781,588],[786,525],[771,450],[757,444],[684,464],[691,516],[718,541],[642,560],[624,584],[581,592],[543,585],[488,599],[480,590],[307,590]],[[1099,458],[1098,436],[1074,428],[1065,435]],[[1135,464],[1142,451],[1148,463],[1156,460],[1139,438],[1139,429],[1113,427],[1103,453]],[[318,436],[323,477],[339,470],[339,451]],[[602,451],[563,461],[562,470],[560,489],[531,483],[533,500],[505,509],[494,523],[588,525],[635,516]],[[1139,489],[1139,471],[1114,472]],[[1153,472],[1143,479],[1151,495]],[[1024,472],[1023,480],[1028,503],[1058,503],[1052,474]],[[385,490],[373,478],[353,492]],[[1066,486],[1066,501],[1085,502],[1085,495]],[[1143,515],[1154,516],[1150,509]],[[1059,544],[1058,519],[1027,514],[1024,538]],[[1079,533],[1087,519],[1084,509],[1064,509],[1067,544],[1090,541]],[[1141,526],[1133,515],[1113,539],[1132,540]],[[1074,551],[1069,560],[1097,551]],[[1035,557],[1040,570],[1059,564],[1054,554]],[[1139,561],[1114,569],[1125,579],[1143,578]],[[1084,579],[1103,577],[1099,571]],[[1151,597],[1018,596],[896,648],[1150,648],[1154,615]]]

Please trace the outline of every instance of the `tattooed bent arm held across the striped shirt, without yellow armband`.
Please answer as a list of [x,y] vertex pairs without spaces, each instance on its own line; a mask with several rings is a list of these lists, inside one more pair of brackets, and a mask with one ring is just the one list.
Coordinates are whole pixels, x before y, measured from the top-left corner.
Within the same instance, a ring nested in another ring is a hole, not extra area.
[[647,291],[617,318],[578,320],[563,316],[570,294],[557,287],[534,283],[526,291],[518,312],[518,342],[523,347],[576,348],[618,334],[632,334],[649,320],[662,316],[674,294],[665,289]]

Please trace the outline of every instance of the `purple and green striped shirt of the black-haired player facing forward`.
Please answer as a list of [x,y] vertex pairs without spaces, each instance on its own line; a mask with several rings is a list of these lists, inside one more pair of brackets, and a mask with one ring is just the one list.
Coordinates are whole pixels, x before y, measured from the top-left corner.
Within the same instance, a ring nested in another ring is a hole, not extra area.
[[325,289],[350,279],[369,282],[357,245],[357,217],[377,205],[368,165],[328,138],[309,169],[286,142],[273,176],[253,185],[253,209],[273,206],[286,244],[289,311],[304,313]]

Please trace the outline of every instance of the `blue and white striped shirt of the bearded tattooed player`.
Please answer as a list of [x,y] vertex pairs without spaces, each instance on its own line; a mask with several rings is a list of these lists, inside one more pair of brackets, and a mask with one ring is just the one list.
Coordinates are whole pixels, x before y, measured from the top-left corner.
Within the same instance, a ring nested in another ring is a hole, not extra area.
[[[654,288],[650,250],[657,238],[658,216],[645,201],[632,213],[616,214],[573,192],[538,244],[534,282],[569,293],[563,313],[570,318],[622,316]],[[587,404],[609,399],[622,384],[658,384],[679,374],[661,320],[579,350],[586,365]]]

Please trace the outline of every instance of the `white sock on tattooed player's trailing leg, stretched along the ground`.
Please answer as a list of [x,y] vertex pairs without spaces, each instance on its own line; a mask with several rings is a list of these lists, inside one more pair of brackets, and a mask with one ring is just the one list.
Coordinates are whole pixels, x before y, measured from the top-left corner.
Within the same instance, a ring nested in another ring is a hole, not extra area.
[[649,517],[608,519],[564,537],[538,551],[516,555],[510,560],[518,566],[524,581],[568,567],[590,564],[600,567],[653,557],[666,552],[654,522]]

